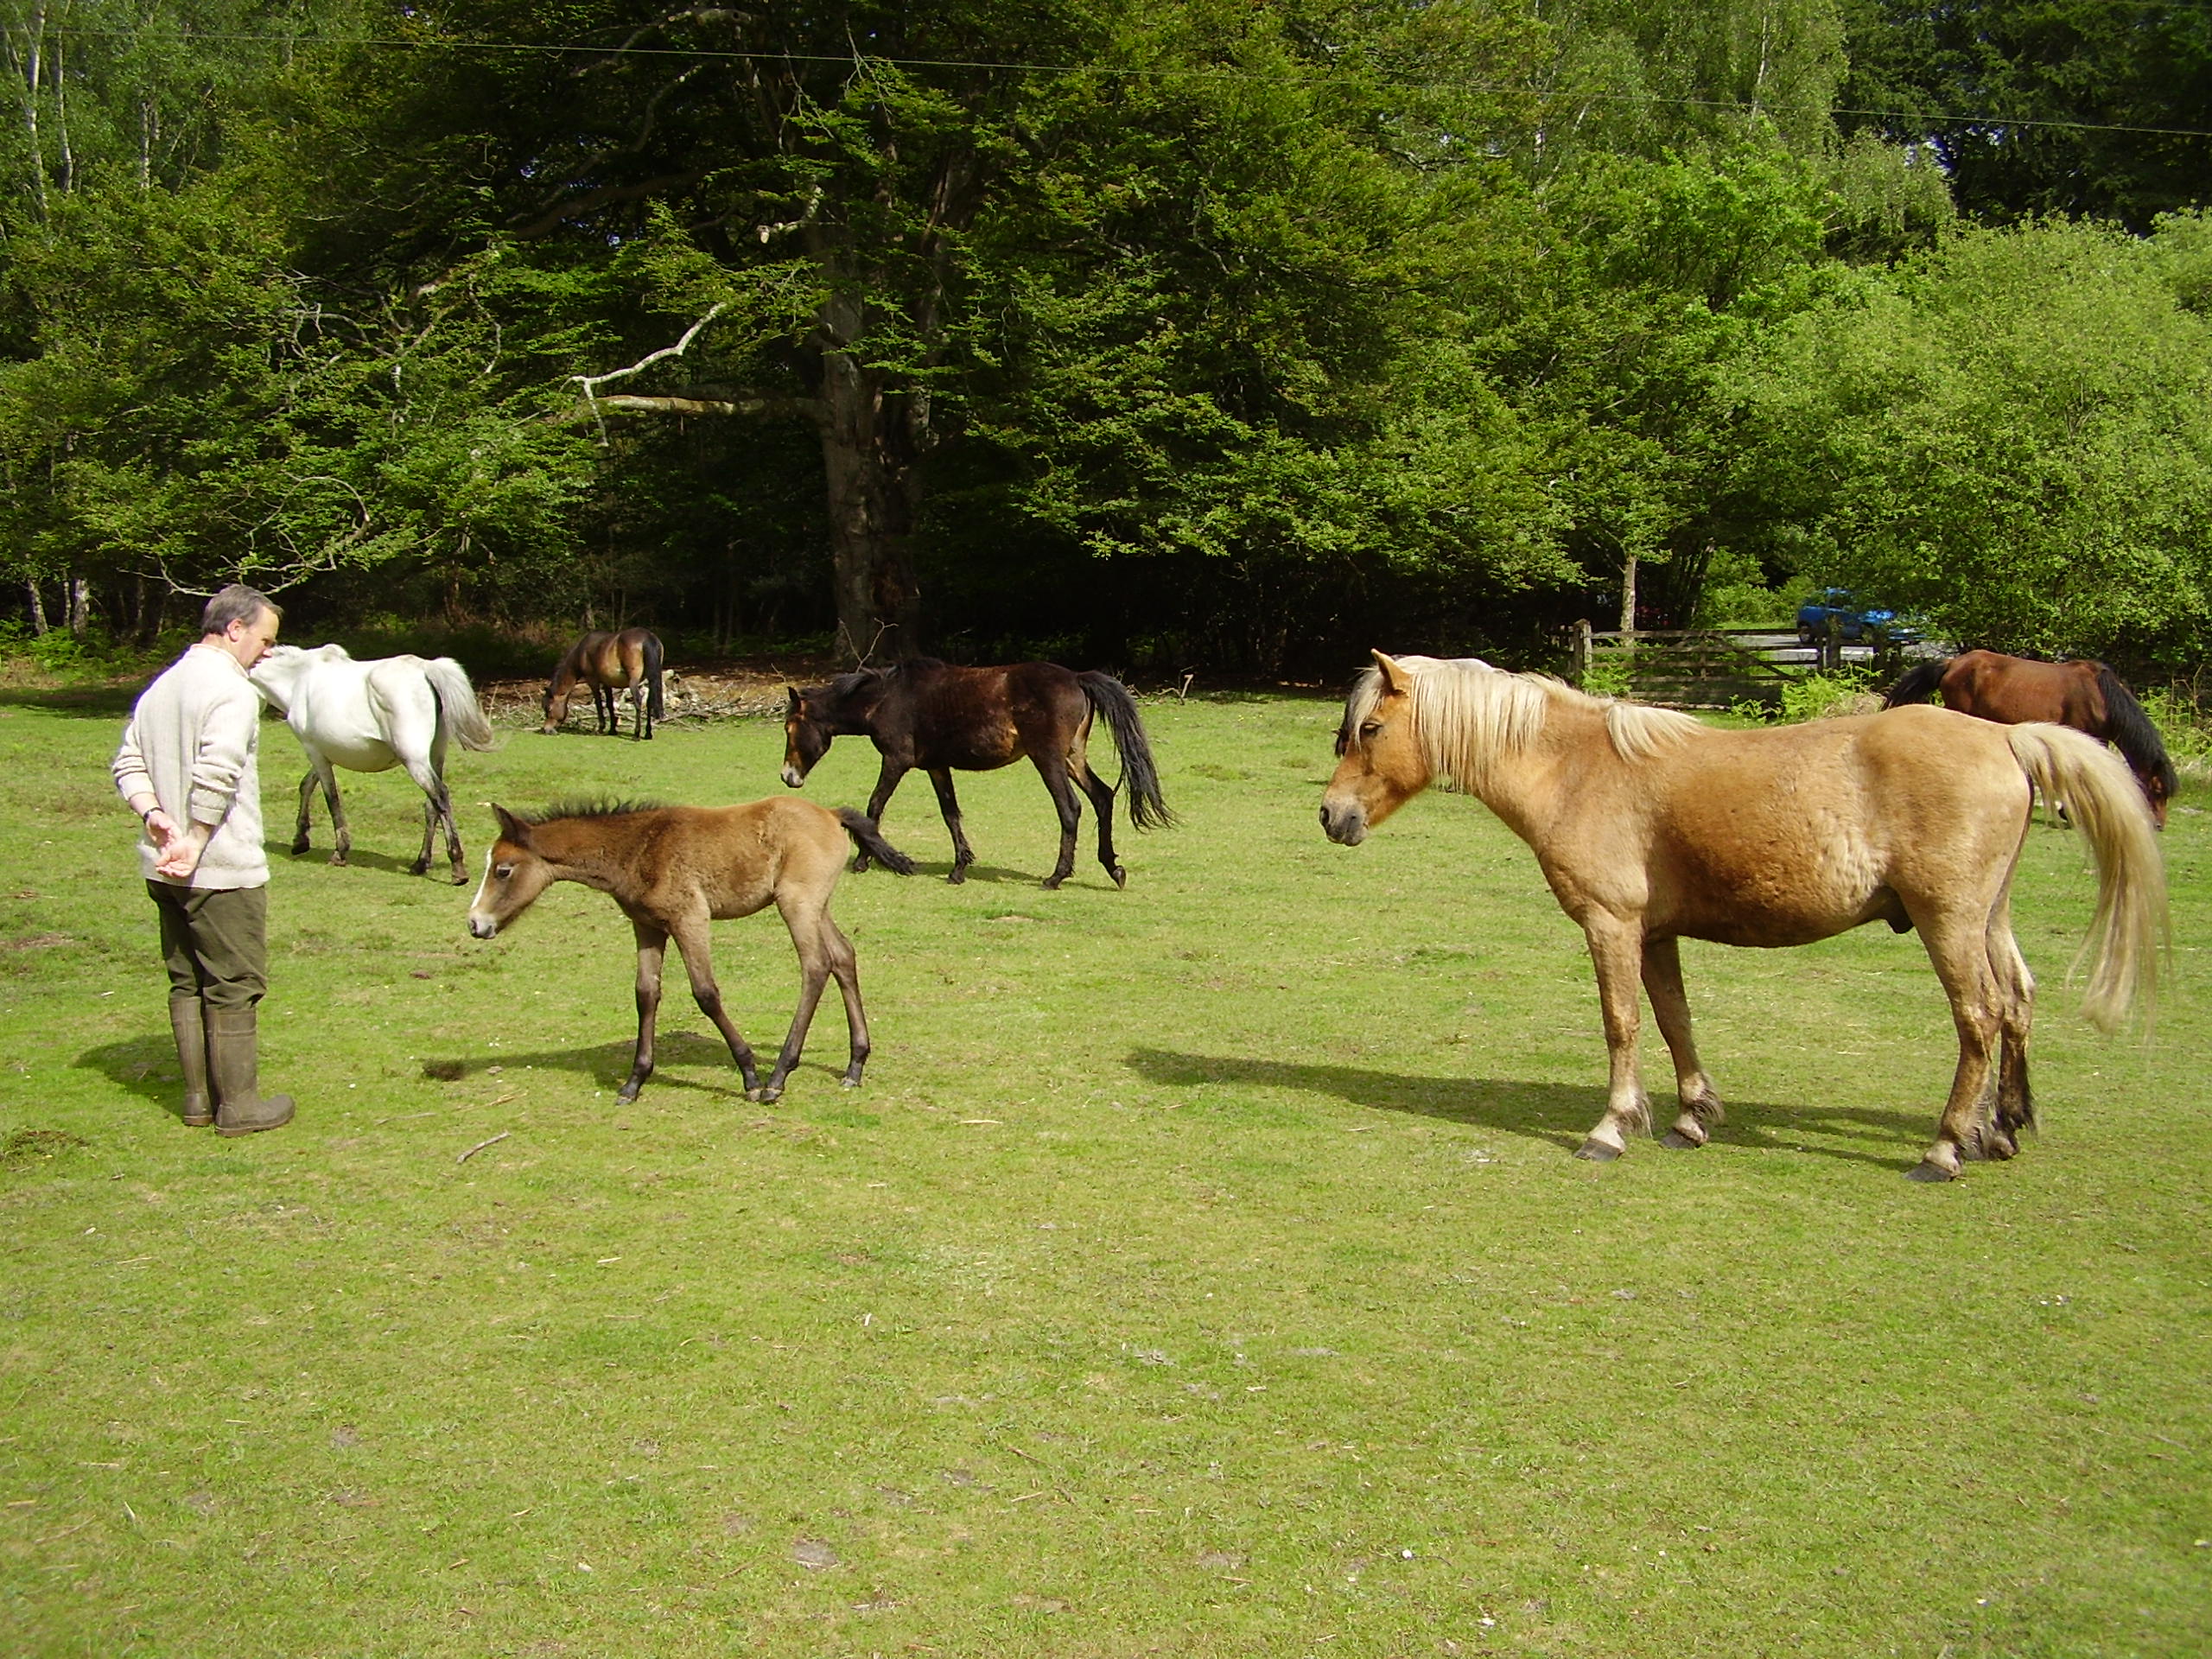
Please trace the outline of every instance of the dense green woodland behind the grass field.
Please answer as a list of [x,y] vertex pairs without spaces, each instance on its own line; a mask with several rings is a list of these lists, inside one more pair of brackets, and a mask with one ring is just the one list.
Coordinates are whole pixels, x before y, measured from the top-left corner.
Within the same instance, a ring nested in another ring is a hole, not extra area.
[[2212,644],[2212,9],[0,0],[15,635]]

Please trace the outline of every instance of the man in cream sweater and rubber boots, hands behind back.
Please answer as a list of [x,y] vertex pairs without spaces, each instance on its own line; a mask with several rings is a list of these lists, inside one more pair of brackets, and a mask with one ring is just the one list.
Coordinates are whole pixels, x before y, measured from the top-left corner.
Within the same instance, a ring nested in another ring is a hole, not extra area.
[[221,1135],[292,1121],[290,1095],[259,1093],[254,1060],[270,867],[261,692],[246,670],[276,644],[279,617],[237,582],[208,599],[199,644],[146,688],[115,752],[115,790],[146,825],[139,867],[161,918],[184,1121]]

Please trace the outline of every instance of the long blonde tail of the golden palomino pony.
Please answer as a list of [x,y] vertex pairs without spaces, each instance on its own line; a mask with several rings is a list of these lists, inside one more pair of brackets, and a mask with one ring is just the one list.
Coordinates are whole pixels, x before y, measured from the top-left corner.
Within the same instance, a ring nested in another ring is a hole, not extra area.
[[2117,1031],[2137,991],[2152,1002],[2159,951],[2170,945],[2166,863],[2143,790],[2104,743],[2064,726],[2006,726],[2013,754],[2046,801],[2064,801],[2097,860],[2097,914],[2075,956],[2090,962],[2081,1011]]

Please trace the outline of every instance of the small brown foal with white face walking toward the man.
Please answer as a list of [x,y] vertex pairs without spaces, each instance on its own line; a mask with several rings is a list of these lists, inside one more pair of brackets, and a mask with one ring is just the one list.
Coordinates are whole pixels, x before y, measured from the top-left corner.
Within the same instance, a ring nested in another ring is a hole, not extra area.
[[[522,816],[493,807],[500,838],[484,860],[484,883],[469,905],[469,933],[493,938],[557,880],[580,880],[608,894],[637,936],[637,1053],[615,1099],[637,1099],[653,1075],[653,1022],[661,1006],[661,958],[677,942],[692,1000],[714,1022],[745,1079],[745,1099],[774,1102],[799,1064],[814,1004],[834,978],[845,995],[852,1062],[845,1088],[867,1064],[867,1013],[852,940],[830,920],[830,891],[845,867],[845,841],[876,863],[914,874],[914,860],[891,847],[852,807],[827,812],[812,801],[776,796],[743,807],[659,807],[644,803],[566,805]],[[737,1033],[714,984],[708,922],[752,916],[774,905],[799,951],[799,1009],[774,1071],[761,1082],[752,1048]]]

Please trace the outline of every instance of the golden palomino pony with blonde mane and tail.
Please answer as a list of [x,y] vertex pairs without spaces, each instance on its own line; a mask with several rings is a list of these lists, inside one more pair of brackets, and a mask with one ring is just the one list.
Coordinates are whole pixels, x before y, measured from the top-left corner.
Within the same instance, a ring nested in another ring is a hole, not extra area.
[[1940,708],[1721,732],[1540,675],[1374,657],[1345,703],[1321,827],[1354,847],[1442,776],[1535,849],[1588,936],[1613,1060],[1582,1157],[1615,1159],[1650,1128],[1639,978],[1681,1091],[1668,1146],[1703,1146],[1721,1121],[1690,1037],[1679,940],[1809,945],[1876,920],[1920,931],[1958,1024],[1951,1099],[1913,1177],[1947,1181],[1964,1157],[2013,1157],[2035,1124],[2035,980],[2011,922],[2035,790],[2073,803],[2097,858],[2088,1018],[2110,1031],[2150,987],[2166,927],[2159,843],[2128,770],[2079,732]]

